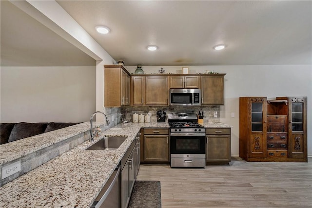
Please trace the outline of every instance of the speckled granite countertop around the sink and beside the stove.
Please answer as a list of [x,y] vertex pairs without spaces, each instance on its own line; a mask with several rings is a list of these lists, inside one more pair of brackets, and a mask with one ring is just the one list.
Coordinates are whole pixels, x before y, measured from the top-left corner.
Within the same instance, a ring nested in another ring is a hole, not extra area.
[[[207,123],[204,126],[231,128],[221,123]],[[84,128],[83,125],[81,127]],[[169,128],[169,124],[125,123],[114,126],[102,132],[102,136],[95,138],[94,142],[83,142],[1,187],[1,208],[90,207],[140,128]],[[128,138],[117,150],[85,151],[104,136],[128,136]],[[55,138],[52,142],[57,140]]]

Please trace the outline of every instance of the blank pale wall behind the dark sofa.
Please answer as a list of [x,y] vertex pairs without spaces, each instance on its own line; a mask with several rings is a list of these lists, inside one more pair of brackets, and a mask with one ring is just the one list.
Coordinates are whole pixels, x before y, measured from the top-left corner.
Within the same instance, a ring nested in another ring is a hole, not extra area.
[[96,110],[96,66],[1,67],[0,122],[85,122]]

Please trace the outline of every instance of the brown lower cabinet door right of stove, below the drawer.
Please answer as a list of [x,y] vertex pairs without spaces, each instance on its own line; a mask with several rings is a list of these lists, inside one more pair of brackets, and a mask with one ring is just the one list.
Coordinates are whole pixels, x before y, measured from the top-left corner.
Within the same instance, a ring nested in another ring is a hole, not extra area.
[[206,162],[228,163],[231,162],[231,136],[207,135],[206,136]]

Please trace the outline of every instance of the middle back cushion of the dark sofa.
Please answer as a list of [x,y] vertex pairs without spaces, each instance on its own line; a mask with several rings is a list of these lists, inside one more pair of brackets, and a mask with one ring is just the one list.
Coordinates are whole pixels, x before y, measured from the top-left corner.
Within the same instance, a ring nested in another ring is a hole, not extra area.
[[16,123],[10,134],[8,142],[44,133],[47,123]]

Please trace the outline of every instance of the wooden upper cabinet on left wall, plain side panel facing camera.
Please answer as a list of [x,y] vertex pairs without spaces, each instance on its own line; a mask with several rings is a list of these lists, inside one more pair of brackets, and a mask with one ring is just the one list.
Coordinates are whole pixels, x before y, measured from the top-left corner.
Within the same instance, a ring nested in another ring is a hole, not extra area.
[[130,74],[121,65],[104,65],[104,106],[130,104]]

